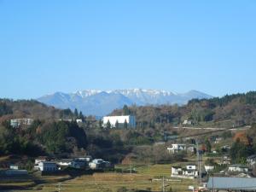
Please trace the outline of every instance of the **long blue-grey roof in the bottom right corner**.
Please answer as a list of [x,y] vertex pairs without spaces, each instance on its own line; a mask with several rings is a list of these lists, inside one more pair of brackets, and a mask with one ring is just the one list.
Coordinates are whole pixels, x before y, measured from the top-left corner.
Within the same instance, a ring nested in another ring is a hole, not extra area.
[[[213,186],[212,186],[213,181]],[[247,177],[209,177],[208,189],[242,189],[246,191],[256,190],[256,178]]]

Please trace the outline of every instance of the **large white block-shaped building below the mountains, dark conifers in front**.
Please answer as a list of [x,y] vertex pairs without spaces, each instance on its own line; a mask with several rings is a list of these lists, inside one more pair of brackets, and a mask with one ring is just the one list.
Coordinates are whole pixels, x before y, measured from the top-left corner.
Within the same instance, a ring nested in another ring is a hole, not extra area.
[[108,121],[111,125],[111,128],[114,128],[117,122],[119,124],[119,128],[123,128],[125,121],[127,123],[128,128],[136,127],[136,118],[135,118],[135,116],[131,116],[131,115],[105,116],[105,117],[103,117],[103,126],[104,127],[107,126]]

